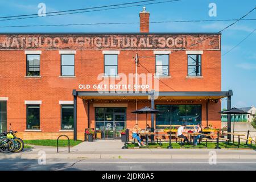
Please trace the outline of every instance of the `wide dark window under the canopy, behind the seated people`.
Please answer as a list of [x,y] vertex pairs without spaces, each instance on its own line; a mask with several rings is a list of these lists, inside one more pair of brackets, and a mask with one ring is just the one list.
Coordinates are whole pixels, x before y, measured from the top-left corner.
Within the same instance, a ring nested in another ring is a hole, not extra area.
[[201,123],[201,105],[156,105],[163,113],[156,114],[156,128],[161,125],[196,125]]

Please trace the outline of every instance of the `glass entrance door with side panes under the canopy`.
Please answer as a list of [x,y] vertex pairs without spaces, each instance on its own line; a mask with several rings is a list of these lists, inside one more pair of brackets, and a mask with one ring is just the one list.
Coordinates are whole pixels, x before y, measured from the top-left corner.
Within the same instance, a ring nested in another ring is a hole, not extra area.
[[101,130],[104,139],[121,138],[126,126],[126,107],[96,107],[96,130]]

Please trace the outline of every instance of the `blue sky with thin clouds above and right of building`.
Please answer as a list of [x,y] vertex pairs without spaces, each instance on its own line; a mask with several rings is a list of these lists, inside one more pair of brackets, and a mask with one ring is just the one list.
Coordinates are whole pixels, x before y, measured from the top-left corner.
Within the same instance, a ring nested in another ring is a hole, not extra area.
[[[140,0],[142,1],[142,0]],[[157,0],[155,2],[164,1]],[[166,1],[166,0],[165,0]],[[90,1],[0,1],[2,16],[37,14],[39,3],[46,5],[46,12],[81,9],[96,6],[136,2],[121,0]],[[209,4],[215,3],[216,16],[209,16]],[[150,21],[238,19],[252,10],[255,0],[181,0],[145,5]],[[76,24],[139,22],[143,5],[123,9],[94,11],[81,14],[46,16],[31,19],[0,21],[0,26],[37,24]],[[255,19],[256,10],[246,16]],[[222,54],[232,49],[255,28],[256,20],[243,20],[222,32]],[[218,32],[232,22],[151,23],[150,32]],[[15,27],[0,28],[0,32],[139,32],[139,24],[69,26],[69,27]],[[256,31],[232,51],[221,57],[222,91],[233,90],[233,107],[256,106]],[[214,76],[214,75],[213,75]],[[222,101],[226,108],[226,100]]]

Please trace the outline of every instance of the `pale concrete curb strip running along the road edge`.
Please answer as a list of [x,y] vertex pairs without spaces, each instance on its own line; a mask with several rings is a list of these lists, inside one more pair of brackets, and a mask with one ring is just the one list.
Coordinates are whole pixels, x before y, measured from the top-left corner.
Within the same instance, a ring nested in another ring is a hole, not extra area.
[[[38,159],[38,154],[13,154],[0,159]],[[47,154],[47,159],[209,159],[209,155],[186,154]],[[256,159],[256,155],[218,154],[217,159]]]

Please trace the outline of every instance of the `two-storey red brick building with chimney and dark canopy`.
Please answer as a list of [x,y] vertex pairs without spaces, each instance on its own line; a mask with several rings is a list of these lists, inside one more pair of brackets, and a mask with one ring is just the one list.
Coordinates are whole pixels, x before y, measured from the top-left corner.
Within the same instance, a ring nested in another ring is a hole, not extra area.
[[220,128],[220,99],[230,107],[232,96],[221,92],[221,34],[150,33],[149,13],[140,19],[139,33],[1,34],[0,129],[84,139],[91,127],[118,138],[123,127],[145,126],[144,114],[131,113],[144,106],[163,111],[148,118],[157,130]]

